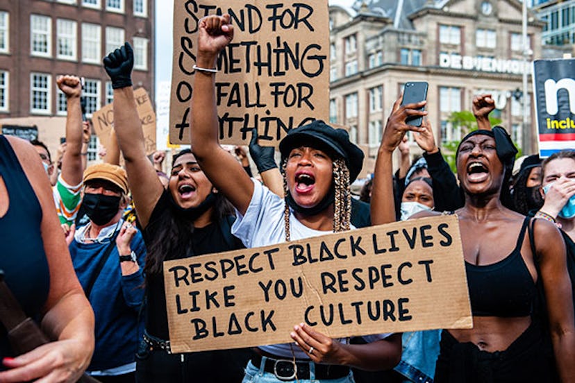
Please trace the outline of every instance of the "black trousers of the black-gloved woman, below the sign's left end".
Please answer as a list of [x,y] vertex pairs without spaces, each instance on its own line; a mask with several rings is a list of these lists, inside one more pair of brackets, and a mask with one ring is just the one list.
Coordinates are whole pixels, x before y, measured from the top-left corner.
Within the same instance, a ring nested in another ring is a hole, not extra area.
[[241,383],[251,355],[249,348],[168,354],[142,341],[136,355],[136,382]]

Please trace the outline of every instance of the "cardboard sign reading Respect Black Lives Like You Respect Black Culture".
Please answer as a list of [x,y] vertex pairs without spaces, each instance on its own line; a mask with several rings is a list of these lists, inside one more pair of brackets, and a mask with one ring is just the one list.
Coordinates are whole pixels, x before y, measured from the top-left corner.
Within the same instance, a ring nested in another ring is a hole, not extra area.
[[172,352],[471,328],[456,216],[164,262]]

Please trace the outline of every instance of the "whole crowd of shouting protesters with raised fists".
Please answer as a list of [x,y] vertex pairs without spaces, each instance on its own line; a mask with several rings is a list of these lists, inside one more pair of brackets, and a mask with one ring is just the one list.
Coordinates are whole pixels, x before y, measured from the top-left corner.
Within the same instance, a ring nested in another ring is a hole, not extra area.
[[[228,15],[202,19],[198,36],[192,150],[167,173],[165,153],[144,149],[128,43],[103,60],[115,126],[102,164],[86,167],[76,76],[57,80],[67,99],[58,158],[0,135],[1,278],[52,340],[15,355],[0,326],[0,382],[74,382],[83,371],[100,382],[575,382],[575,151],[516,162],[481,94],[453,174],[426,102],[400,97],[356,198],[363,151],[323,121],[290,130],[280,164],[257,130],[249,156],[219,145],[213,68],[233,40]],[[423,152],[415,161],[408,135]],[[331,339],[294,323],[292,343],[170,350],[163,262],[437,214],[459,221],[472,329]]]

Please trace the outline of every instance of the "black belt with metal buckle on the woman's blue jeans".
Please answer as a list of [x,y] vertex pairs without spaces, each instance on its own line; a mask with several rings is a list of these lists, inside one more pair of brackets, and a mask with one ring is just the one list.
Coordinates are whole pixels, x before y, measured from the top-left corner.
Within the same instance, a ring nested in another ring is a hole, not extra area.
[[[259,354],[251,358],[251,364],[260,368],[262,356]],[[263,370],[276,375],[279,380],[288,381],[297,379],[310,379],[310,366],[315,365],[314,379],[340,379],[349,375],[349,367],[335,364],[315,364],[313,361],[293,361],[292,359],[274,359],[266,357]]]

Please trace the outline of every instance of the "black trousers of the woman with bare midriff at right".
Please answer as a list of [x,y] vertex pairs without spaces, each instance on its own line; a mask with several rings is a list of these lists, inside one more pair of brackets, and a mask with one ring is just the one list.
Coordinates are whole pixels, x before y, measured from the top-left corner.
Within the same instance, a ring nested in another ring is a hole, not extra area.
[[556,382],[557,373],[540,328],[531,324],[504,351],[486,352],[471,342],[459,343],[443,330],[435,383]]

